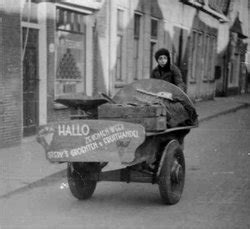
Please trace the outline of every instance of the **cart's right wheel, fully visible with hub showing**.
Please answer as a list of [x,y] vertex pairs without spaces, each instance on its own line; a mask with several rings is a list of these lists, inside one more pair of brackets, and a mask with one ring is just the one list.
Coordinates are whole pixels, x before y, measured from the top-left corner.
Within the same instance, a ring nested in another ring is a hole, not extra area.
[[172,140],[163,151],[158,174],[159,191],[165,204],[176,204],[180,200],[184,181],[184,154],[178,141]]

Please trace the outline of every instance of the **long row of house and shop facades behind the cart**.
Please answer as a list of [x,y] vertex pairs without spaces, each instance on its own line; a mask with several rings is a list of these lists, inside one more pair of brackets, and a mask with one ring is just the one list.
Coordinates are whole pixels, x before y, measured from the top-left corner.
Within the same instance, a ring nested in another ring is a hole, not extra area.
[[[212,99],[230,87],[243,92],[244,60],[230,50],[247,35],[246,3],[1,1],[0,147],[34,135],[39,125],[69,119],[70,111],[55,103],[59,96],[112,96],[149,78],[154,53],[162,47],[169,49],[193,100]],[[241,32],[233,27],[237,17]]]

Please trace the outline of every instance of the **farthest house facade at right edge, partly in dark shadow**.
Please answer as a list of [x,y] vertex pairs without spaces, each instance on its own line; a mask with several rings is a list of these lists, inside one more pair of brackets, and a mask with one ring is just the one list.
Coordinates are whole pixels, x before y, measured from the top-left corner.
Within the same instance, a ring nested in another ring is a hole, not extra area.
[[247,92],[247,38],[249,25],[249,1],[231,0],[227,23],[219,27],[217,47],[216,95],[228,96]]

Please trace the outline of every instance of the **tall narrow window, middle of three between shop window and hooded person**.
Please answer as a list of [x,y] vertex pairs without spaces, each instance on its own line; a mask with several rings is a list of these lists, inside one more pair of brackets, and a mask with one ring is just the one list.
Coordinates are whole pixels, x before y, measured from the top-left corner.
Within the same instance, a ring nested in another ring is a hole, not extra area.
[[141,33],[141,15],[134,14],[134,79],[138,79],[138,64],[139,64],[139,50],[140,50],[140,33]]

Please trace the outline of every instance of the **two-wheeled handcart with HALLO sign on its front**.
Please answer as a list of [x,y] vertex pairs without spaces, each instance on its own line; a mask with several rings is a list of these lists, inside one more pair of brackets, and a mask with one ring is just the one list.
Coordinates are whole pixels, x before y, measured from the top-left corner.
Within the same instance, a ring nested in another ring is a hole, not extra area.
[[[113,98],[77,95],[57,100],[72,109],[72,120],[42,126],[37,139],[50,162],[67,163],[69,188],[77,199],[90,198],[97,182],[118,181],[158,184],[163,203],[171,205],[180,200],[185,180],[183,141],[190,129],[198,124],[162,128],[157,105],[154,111],[159,117],[154,120],[160,125],[156,130],[148,130],[148,125],[138,119],[126,119],[131,113],[120,119],[100,118],[98,114],[99,108],[106,104],[128,104],[126,106],[132,107],[130,110],[136,111],[138,108],[133,107],[138,101],[143,102],[145,98],[149,101],[148,95],[136,97],[138,91],[149,91],[153,95],[166,91],[162,83],[159,85],[156,81],[135,82]],[[173,95],[176,88],[167,86],[167,90]],[[188,103],[192,102],[189,100]],[[125,108],[119,107],[120,110]],[[152,106],[147,109],[150,113]],[[151,125],[153,119],[145,120]],[[113,169],[109,164],[116,164],[118,168]]]

